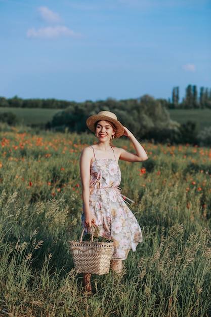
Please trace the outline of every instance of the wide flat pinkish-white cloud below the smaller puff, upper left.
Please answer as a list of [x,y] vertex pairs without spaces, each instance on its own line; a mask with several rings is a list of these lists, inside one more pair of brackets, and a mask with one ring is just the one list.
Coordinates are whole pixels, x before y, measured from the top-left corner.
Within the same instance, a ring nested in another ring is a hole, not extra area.
[[33,38],[56,38],[61,36],[79,37],[81,34],[68,29],[66,26],[58,25],[55,27],[48,26],[46,28],[40,28],[38,30],[35,30],[35,28],[28,29],[26,36]]

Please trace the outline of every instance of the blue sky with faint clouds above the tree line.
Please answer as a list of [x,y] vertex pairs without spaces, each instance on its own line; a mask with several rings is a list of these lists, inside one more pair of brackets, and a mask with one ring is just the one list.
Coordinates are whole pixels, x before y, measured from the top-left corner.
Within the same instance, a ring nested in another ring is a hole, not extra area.
[[210,0],[0,0],[0,96],[171,98],[211,88]]

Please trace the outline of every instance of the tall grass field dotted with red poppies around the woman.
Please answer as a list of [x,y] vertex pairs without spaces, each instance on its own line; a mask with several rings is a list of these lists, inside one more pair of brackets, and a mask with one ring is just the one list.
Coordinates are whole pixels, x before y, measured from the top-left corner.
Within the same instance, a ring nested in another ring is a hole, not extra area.
[[96,139],[6,126],[0,138],[1,316],[210,317],[210,148],[145,143],[147,161],[119,162],[144,241],[123,283],[92,276],[90,297],[68,241],[81,233],[80,152]]

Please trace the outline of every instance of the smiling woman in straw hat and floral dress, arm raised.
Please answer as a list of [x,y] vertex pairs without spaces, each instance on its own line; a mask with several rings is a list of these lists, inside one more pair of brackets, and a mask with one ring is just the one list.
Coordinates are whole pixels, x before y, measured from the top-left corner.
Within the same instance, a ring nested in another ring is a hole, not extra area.
[[[147,154],[135,136],[117,120],[114,113],[101,111],[87,119],[88,128],[98,143],[83,149],[80,156],[80,176],[83,200],[83,227],[99,226],[99,235],[113,241],[111,268],[118,274],[122,260],[142,242],[141,228],[125,204],[118,188],[121,172],[118,160],[141,162]],[[112,147],[110,141],[125,135],[134,145],[135,153]],[[91,274],[83,274],[83,285],[92,292]]]

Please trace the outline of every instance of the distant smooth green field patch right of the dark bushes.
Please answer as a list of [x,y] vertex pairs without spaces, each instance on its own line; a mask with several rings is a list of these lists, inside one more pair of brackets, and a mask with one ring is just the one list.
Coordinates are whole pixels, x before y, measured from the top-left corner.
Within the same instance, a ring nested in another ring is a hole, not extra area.
[[172,120],[179,123],[185,123],[188,120],[196,121],[199,130],[211,126],[210,109],[170,109],[168,111],[170,112]]

